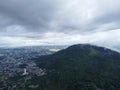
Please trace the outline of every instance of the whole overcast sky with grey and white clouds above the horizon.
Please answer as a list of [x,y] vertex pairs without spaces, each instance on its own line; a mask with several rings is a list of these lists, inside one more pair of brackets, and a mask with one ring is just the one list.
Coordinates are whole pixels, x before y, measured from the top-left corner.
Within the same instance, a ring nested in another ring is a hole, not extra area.
[[120,51],[120,0],[0,0],[0,47],[80,43]]

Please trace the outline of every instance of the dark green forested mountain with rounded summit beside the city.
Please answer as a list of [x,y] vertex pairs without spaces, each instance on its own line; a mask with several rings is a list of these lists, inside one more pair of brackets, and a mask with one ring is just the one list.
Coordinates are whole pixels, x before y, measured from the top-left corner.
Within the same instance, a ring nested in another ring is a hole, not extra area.
[[36,63],[46,69],[43,90],[120,90],[120,54],[107,48],[73,45]]

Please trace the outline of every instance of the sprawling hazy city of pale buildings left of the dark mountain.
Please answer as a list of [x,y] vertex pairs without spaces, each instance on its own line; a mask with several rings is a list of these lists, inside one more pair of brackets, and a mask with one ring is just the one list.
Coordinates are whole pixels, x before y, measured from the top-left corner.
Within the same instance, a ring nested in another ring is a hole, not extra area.
[[[49,55],[63,47],[24,47],[0,49],[0,75],[14,77],[16,75],[36,74],[44,75],[45,70],[39,68],[34,62],[34,58],[41,55]],[[27,73],[25,73],[26,71]]]

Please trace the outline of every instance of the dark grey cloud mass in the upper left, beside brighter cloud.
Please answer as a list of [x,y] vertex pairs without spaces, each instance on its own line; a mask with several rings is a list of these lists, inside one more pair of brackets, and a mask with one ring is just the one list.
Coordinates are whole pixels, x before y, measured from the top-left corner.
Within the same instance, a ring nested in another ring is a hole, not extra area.
[[47,26],[56,13],[56,5],[55,0],[2,0],[0,13],[4,19],[8,18],[10,25],[20,24],[35,29]]

